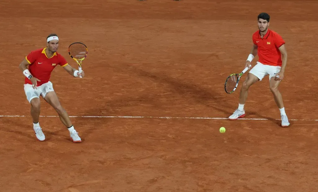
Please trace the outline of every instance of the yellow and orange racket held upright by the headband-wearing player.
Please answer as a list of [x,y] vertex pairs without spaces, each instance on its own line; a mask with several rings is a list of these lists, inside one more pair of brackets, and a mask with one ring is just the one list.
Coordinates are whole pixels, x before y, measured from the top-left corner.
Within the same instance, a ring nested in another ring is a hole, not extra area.
[[79,65],[79,77],[82,78],[80,74],[82,72],[82,61],[86,58],[88,49],[84,43],[75,42],[68,46],[68,54],[77,62]]

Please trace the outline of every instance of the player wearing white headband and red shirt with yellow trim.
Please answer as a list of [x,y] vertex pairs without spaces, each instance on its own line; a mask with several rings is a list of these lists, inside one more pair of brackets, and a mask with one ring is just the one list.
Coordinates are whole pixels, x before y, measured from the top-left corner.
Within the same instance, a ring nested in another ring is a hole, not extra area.
[[[53,85],[49,81],[51,72],[57,65],[63,67],[70,75],[79,77],[79,71],[71,67],[65,58],[57,53],[58,48],[59,37],[56,34],[51,34],[46,38],[45,48],[31,51],[20,63],[19,68],[25,76],[24,92],[31,104],[33,129],[38,140],[45,140],[45,135],[39,125],[41,95],[59,114],[62,123],[70,131],[72,141],[79,143],[81,142],[81,138],[74,129],[67,112],[61,106],[59,98],[54,92]],[[81,75],[84,77],[84,72],[81,72]]]

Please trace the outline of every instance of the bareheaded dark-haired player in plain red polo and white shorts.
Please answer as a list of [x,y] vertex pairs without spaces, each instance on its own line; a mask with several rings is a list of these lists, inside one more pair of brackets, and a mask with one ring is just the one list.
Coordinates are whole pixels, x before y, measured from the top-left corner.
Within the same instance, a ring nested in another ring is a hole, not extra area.
[[267,13],[259,14],[257,19],[259,30],[252,36],[253,47],[246,60],[245,67],[250,65],[256,55],[259,56],[259,61],[256,62],[257,64],[248,73],[241,88],[239,107],[229,119],[235,120],[245,116],[244,104],[249,87],[257,81],[261,81],[266,75],[269,75],[269,88],[273,93],[276,105],[280,110],[281,126],[287,127],[289,122],[282,96],[278,90],[280,81],[284,78],[285,67],[287,64],[285,41],[278,33],[268,29],[270,16]]

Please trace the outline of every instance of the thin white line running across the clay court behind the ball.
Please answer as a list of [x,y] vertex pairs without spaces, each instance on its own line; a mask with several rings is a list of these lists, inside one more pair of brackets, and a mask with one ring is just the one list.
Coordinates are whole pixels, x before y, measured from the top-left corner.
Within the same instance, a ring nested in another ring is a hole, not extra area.
[[[0,117],[31,117],[27,115],[0,115]],[[40,117],[59,117],[41,116]],[[147,116],[70,116],[71,118],[156,118],[156,119],[229,119],[219,117],[147,117]],[[265,118],[239,118],[238,120],[269,120]],[[280,119],[275,119],[280,120]],[[289,119],[290,121],[318,121],[318,119]]]

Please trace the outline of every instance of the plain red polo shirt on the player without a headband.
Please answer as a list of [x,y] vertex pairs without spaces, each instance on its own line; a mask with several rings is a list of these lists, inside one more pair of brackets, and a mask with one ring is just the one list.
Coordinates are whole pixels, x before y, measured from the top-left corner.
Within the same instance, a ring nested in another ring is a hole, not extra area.
[[259,62],[264,65],[281,66],[281,53],[278,48],[285,44],[285,41],[273,30],[268,29],[263,39],[259,32],[259,30],[256,31],[252,36],[253,43],[258,47]]

